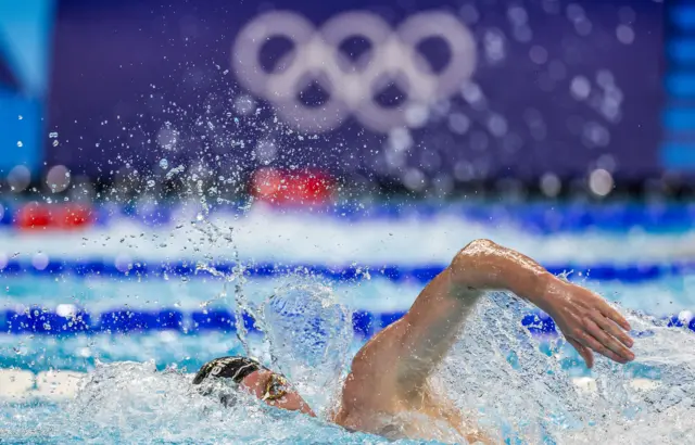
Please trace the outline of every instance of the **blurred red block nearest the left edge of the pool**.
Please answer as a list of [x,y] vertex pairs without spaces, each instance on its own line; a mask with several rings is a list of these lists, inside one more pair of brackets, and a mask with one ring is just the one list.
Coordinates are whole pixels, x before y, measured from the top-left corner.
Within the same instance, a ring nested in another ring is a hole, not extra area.
[[83,205],[47,205],[31,202],[22,206],[15,216],[21,230],[75,230],[91,226],[91,209]]

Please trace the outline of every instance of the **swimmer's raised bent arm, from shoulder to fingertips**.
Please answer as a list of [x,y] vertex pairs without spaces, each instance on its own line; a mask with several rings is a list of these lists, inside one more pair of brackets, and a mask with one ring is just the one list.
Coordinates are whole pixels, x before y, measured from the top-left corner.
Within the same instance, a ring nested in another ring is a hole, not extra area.
[[402,395],[417,396],[476,302],[492,290],[514,292],[546,312],[589,367],[592,351],[619,363],[634,358],[628,348],[632,340],[623,331],[630,330],[628,321],[601,296],[558,279],[518,252],[477,240],[422,290],[401,320],[361,351],[353,373],[355,368],[372,376],[390,373]]

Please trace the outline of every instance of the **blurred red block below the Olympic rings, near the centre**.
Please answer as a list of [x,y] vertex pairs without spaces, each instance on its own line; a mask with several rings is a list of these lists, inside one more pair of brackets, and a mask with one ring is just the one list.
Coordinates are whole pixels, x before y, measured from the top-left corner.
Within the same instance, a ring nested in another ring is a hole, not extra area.
[[280,205],[316,205],[332,202],[334,179],[323,171],[288,171],[260,168],[251,180],[251,194]]

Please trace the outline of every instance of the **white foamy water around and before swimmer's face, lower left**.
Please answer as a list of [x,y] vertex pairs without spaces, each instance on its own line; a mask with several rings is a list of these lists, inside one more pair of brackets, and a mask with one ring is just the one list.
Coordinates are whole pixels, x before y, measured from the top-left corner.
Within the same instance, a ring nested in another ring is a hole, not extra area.
[[[175,369],[157,372],[153,363],[100,365],[68,404],[22,406],[16,414],[3,407],[1,412],[14,416],[5,422],[0,415],[0,431],[8,443],[377,442],[374,436],[350,434],[307,416],[273,409],[220,382],[203,394],[190,380]],[[220,404],[220,395],[233,403]]]

